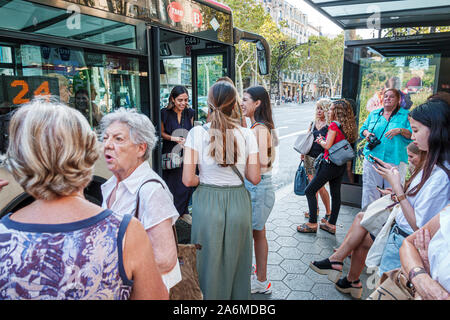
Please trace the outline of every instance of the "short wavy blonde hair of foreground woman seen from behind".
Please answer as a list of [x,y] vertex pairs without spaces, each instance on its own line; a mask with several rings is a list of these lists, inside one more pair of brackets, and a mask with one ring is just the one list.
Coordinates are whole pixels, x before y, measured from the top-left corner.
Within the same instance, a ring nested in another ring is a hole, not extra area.
[[35,99],[11,118],[9,139],[8,170],[34,198],[68,196],[91,181],[97,137],[79,111],[55,99]]

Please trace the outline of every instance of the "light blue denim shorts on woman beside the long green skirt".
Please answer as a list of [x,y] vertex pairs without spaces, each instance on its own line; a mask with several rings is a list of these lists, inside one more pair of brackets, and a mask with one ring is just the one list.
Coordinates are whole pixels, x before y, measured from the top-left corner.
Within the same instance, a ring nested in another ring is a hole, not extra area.
[[262,230],[275,204],[275,192],[271,175],[262,175],[256,186],[245,180],[245,187],[252,198],[252,228]]

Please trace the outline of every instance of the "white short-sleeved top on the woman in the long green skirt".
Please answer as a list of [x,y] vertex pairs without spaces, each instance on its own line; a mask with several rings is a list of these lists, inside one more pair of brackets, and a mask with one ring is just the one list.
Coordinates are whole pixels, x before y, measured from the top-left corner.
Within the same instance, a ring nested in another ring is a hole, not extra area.
[[[211,124],[206,125],[208,129]],[[250,154],[258,153],[258,143],[255,135],[249,128],[239,127],[233,129],[237,140],[239,155],[236,168],[245,177],[245,165]],[[200,183],[217,186],[237,186],[242,181],[231,167],[221,167],[209,155],[210,136],[209,131],[203,126],[196,126],[189,131],[185,146],[198,152],[198,167]]]

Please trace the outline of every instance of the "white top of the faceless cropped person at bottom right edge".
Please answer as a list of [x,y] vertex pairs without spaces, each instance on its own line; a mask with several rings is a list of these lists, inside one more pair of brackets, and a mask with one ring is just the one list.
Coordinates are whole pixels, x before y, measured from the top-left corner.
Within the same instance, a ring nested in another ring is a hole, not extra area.
[[428,245],[431,278],[450,292],[450,205],[441,211],[440,228]]

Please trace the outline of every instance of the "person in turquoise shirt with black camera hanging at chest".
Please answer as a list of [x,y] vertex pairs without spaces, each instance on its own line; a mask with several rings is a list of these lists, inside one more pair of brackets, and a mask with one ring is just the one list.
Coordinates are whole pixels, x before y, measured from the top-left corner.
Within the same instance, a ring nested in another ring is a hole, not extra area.
[[412,131],[408,110],[400,107],[400,101],[400,91],[387,89],[384,92],[383,108],[372,111],[359,131],[361,138],[367,140],[363,151],[365,158],[362,208],[380,198],[377,186],[384,189],[391,187],[389,182],[375,171],[370,156],[398,167],[401,181],[405,180],[408,161],[406,146],[411,142]]

